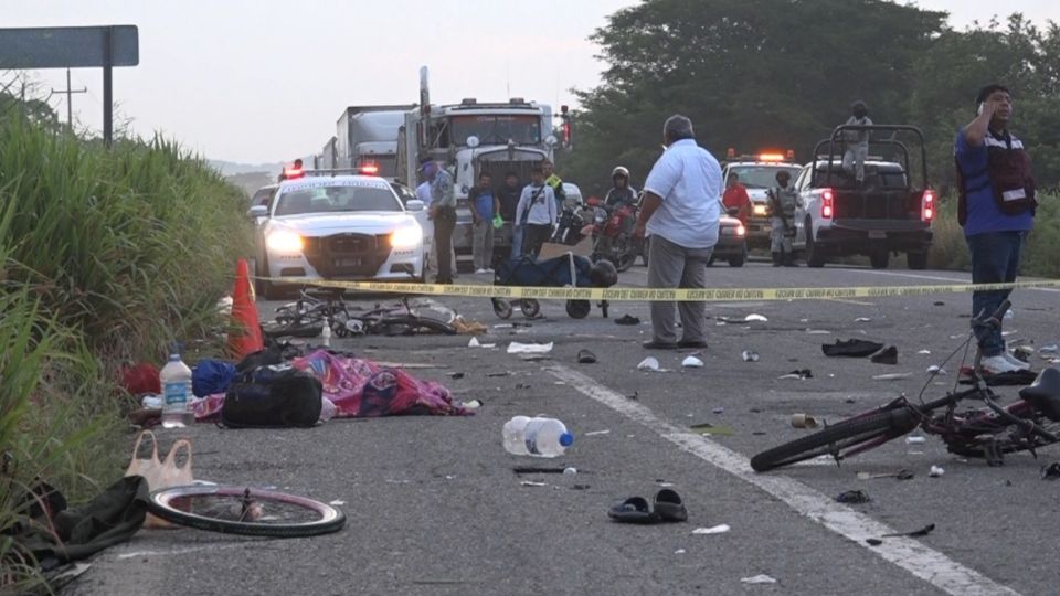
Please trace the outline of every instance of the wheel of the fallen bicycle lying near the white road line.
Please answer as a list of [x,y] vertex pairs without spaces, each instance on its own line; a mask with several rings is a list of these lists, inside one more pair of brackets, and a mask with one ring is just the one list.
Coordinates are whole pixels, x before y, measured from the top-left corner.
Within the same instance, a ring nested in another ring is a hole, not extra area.
[[751,458],[751,468],[754,471],[766,471],[789,466],[817,456],[840,453],[847,447],[884,435],[898,437],[909,433],[915,426],[916,421],[904,408],[842,421],[808,437],[762,451]]

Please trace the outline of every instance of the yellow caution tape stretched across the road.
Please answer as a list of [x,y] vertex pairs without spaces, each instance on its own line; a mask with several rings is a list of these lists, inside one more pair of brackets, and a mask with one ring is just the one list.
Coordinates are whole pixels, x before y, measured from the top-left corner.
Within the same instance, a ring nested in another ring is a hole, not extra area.
[[1060,288],[1060,279],[1014,281],[1010,284],[947,284],[933,286],[858,286],[849,288],[548,288],[531,286],[442,285],[390,281],[343,281],[338,279],[271,278],[284,285],[317,286],[374,294],[416,294],[425,296],[464,296],[469,298],[505,298],[519,300],[610,300],[613,302],[720,302],[763,300],[828,300],[834,298],[888,298],[969,291],[1026,288]]

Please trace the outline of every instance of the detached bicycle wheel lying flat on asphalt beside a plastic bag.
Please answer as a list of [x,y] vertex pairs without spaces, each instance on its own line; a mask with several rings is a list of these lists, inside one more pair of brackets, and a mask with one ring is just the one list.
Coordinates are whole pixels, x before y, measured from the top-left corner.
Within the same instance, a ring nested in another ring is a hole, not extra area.
[[250,536],[316,536],[337,532],[346,524],[344,513],[319,501],[234,486],[157,490],[148,501],[148,511],[178,525]]

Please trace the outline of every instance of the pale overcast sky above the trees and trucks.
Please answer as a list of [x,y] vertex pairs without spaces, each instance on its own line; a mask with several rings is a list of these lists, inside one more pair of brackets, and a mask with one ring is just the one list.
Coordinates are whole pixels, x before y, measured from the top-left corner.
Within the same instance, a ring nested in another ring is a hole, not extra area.
[[[2,26],[135,24],[140,64],[116,68],[119,118],[212,159],[318,152],[347,105],[526,97],[571,104],[600,82],[587,36],[633,0],[0,0]],[[1060,22],[1053,0],[919,0],[963,28],[995,13]],[[7,84],[13,73],[0,72]],[[46,95],[65,72],[30,73]],[[73,71],[75,118],[98,129],[102,73]],[[509,93],[510,89],[510,93]],[[51,104],[65,115],[65,95]]]

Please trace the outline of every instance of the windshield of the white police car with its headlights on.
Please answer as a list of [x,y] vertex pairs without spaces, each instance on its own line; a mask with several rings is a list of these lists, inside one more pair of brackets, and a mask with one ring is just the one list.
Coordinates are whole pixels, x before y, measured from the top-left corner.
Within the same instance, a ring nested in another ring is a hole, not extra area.
[[284,189],[276,199],[274,215],[306,213],[350,213],[358,211],[395,211],[404,209],[389,188],[338,184]]

